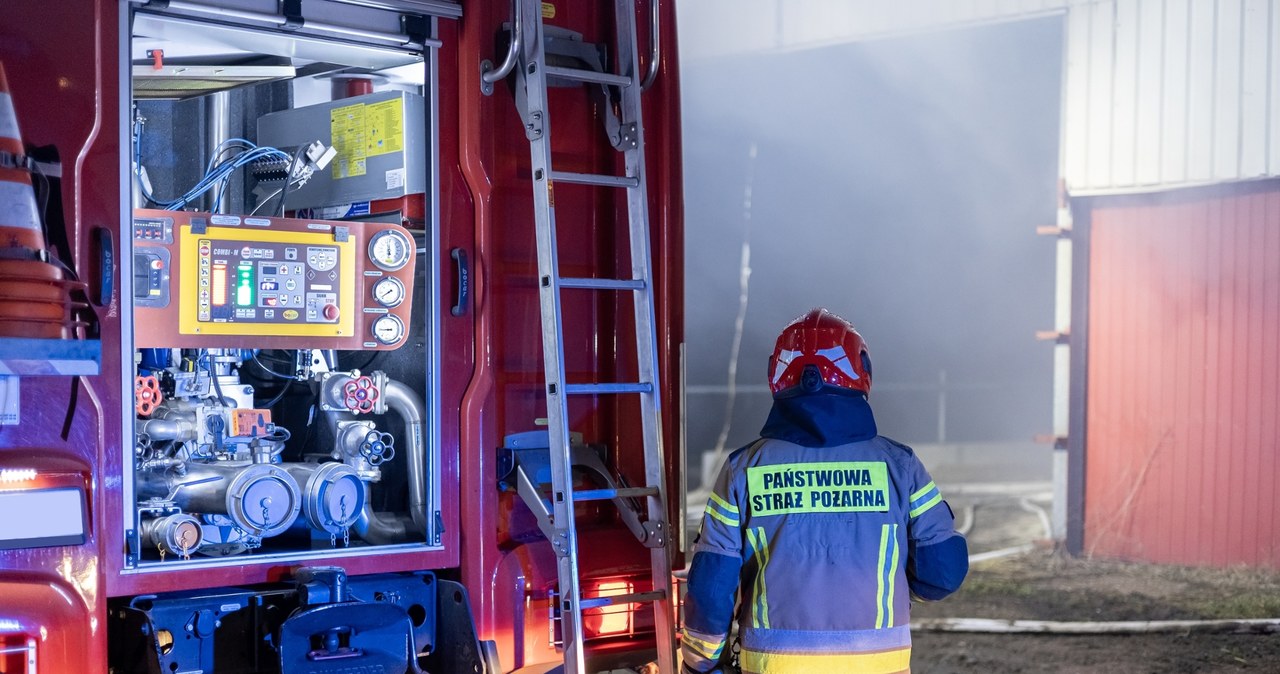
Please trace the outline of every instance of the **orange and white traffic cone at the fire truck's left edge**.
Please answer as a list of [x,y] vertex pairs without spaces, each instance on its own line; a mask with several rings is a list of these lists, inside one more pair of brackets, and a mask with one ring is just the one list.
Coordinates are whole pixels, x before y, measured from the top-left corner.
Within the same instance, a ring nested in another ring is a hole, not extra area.
[[31,169],[0,64],[0,336],[72,336],[69,284],[49,262]]

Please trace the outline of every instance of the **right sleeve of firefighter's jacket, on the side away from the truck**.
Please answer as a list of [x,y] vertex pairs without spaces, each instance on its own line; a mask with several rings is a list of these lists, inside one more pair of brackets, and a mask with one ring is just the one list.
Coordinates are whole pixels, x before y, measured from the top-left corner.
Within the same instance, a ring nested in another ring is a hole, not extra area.
[[906,582],[914,596],[937,601],[960,590],[969,573],[969,546],[928,471],[914,454],[910,463]]

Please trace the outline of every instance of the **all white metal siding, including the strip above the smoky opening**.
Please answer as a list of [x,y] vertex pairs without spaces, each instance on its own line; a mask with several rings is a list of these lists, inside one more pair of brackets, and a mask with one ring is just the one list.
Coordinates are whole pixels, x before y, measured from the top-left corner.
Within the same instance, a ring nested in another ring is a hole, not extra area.
[[686,60],[1066,12],[1076,194],[1280,175],[1280,0],[696,0]]

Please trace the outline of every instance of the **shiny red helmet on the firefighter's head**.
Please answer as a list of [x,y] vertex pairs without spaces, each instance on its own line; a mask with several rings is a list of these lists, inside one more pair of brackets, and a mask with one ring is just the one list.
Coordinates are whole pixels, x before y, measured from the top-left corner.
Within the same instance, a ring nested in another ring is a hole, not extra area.
[[872,361],[867,343],[849,321],[817,308],[778,335],[769,357],[769,389],[774,398],[785,398],[817,393],[823,385],[870,395]]

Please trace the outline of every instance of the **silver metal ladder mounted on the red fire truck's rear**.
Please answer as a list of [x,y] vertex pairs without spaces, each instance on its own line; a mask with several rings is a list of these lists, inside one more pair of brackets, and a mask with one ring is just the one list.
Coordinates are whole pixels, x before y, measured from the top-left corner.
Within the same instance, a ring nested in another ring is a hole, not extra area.
[[[653,0],[657,1],[657,0]],[[538,274],[541,299],[543,359],[547,376],[547,414],[549,426],[549,453],[552,473],[552,499],[548,504],[532,489],[529,476],[521,472],[521,495],[547,526],[544,532],[556,550],[559,591],[556,597],[561,616],[561,637],[564,654],[564,671],[582,674],[582,611],[617,605],[649,604],[654,613],[654,633],[658,665],[663,674],[676,671],[675,613],[671,579],[671,527],[667,522],[666,460],[662,446],[662,407],[658,399],[658,344],[653,298],[653,261],[649,239],[649,201],[645,184],[644,132],[640,115],[643,88],[639,56],[636,52],[635,0],[616,0],[617,61],[623,74],[604,72],[599,63],[594,68],[564,68],[548,65],[547,43],[563,43],[562,29],[544,29],[541,3],[516,0],[513,51],[518,51],[517,105],[525,121],[525,134],[532,159],[532,191],[535,228],[538,234]],[[550,36],[548,33],[552,33]],[[580,43],[579,43],[580,45]],[[568,47],[579,55],[584,50]],[[588,61],[591,59],[588,58]],[[650,69],[652,79],[655,70]],[[598,86],[605,92],[604,128],[613,146],[622,152],[625,175],[596,175],[557,171],[552,168],[550,119],[548,116],[548,78]],[[490,78],[485,78],[486,82]],[[618,111],[609,104],[609,91],[617,91]],[[520,96],[518,93],[522,93]],[[627,200],[627,229],[631,247],[630,279],[581,279],[559,275],[556,244],[556,183],[576,183],[596,188],[625,191]],[[631,293],[635,307],[636,354],[639,381],[636,382],[567,382],[564,381],[564,317],[561,312],[561,292]],[[645,458],[645,485],[620,486],[607,481],[605,489],[573,490],[573,467],[600,473],[603,466],[588,466],[582,453],[572,446],[568,428],[568,396],[571,395],[637,395],[643,416],[643,444]],[[644,499],[643,512],[628,505],[632,499]],[[612,500],[621,509],[622,519],[650,551],[653,590],[608,597],[584,597],[579,569],[579,541],[573,521],[576,503]]]

